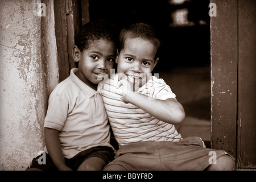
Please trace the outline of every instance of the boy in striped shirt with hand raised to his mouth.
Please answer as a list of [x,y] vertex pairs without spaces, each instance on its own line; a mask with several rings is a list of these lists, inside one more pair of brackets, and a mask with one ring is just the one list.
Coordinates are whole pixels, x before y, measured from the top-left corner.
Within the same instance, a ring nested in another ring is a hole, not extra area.
[[112,70],[110,79],[98,85],[119,144],[104,170],[234,169],[226,152],[205,148],[199,137],[183,139],[175,129],[185,113],[170,86],[151,75],[160,47],[152,27],[131,24],[122,29],[119,43],[117,73]]

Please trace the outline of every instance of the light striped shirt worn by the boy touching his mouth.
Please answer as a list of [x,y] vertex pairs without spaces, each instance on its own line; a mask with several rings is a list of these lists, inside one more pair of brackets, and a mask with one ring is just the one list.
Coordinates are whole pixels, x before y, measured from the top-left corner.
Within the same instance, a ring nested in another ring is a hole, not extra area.
[[[174,125],[156,119],[133,104],[122,102],[120,100],[122,86],[116,89],[117,82],[118,75],[116,73],[114,77],[102,81],[98,85],[98,92],[101,93],[119,147],[134,142],[179,142],[182,139]],[[155,76],[151,76],[137,92],[152,97],[152,99],[166,100],[176,97],[170,86],[162,78],[159,79]]]

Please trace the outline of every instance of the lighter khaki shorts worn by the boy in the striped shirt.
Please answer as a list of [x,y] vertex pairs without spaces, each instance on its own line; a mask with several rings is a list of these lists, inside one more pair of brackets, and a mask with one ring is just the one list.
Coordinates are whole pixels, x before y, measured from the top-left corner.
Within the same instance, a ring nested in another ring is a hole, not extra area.
[[119,148],[115,159],[107,166],[119,165],[127,171],[187,171],[204,170],[226,153],[204,148],[199,137],[180,142],[137,142]]

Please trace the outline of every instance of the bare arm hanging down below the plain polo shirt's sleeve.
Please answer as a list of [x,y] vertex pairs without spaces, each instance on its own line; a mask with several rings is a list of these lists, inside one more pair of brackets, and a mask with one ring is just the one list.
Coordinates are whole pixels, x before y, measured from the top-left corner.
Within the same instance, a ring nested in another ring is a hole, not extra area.
[[51,156],[52,162],[58,170],[70,171],[72,170],[65,165],[65,159],[61,150],[59,131],[44,127],[44,135],[46,139],[46,148],[49,156]]

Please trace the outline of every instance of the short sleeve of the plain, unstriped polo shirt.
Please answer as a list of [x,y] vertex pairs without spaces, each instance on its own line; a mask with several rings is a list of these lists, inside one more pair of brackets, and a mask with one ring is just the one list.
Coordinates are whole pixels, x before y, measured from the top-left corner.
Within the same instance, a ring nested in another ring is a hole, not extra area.
[[44,127],[60,131],[67,119],[68,105],[67,100],[64,100],[56,93],[51,93],[46,118],[44,119]]

